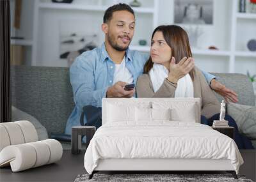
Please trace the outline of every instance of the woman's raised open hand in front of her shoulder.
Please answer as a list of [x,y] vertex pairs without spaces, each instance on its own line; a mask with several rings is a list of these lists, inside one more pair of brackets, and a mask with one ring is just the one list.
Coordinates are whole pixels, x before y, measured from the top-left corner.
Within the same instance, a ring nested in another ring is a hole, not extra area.
[[175,64],[175,58],[172,57],[170,62],[170,72],[167,79],[170,82],[177,84],[178,80],[188,74],[195,66],[195,61],[192,57],[183,57],[178,64]]

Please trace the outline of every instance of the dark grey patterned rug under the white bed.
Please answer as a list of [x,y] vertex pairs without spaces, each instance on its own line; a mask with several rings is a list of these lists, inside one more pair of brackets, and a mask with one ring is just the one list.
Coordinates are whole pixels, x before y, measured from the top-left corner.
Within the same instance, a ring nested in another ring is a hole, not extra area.
[[93,182],[93,181],[136,181],[136,182],[148,182],[148,181],[210,181],[210,182],[226,182],[226,181],[243,181],[253,182],[251,179],[246,179],[244,176],[239,176],[238,179],[234,179],[232,174],[94,174],[92,179],[88,179],[89,174],[78,175],[75,182]]

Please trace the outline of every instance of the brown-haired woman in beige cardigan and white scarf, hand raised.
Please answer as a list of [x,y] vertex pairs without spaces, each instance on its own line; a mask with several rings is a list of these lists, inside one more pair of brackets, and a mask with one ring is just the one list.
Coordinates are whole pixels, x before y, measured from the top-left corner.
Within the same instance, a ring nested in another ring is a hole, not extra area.
[[[195,67],[186,31],[179,26],[159,26],[154,30],[151,40],[150,58],[144,66],[144,74],[137,80],[137,96],[200,98],[201,123],[211,126],[213,119],[219,119],[220,103],[202,72]],[[227,115],[225,119],[228,125],[235,128],[238,148],[253,149],[250,140],[239,135],[234,119]]]

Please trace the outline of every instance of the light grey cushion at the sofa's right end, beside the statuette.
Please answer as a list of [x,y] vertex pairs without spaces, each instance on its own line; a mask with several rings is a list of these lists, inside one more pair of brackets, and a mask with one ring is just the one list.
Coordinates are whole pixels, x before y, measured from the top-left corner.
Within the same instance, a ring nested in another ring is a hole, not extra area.
[[227,113],[235,119],[238,130],[251,140],[256,140],[256,107],[228,103]]

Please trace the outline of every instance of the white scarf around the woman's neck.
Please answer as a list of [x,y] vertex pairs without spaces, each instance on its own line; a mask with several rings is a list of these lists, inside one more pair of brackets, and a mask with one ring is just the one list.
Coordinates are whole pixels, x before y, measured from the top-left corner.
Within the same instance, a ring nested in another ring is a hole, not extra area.
[[[161,87],[164,79],[168,77],[168,70],[163,64],[154,63],[151,70],[148,72],[153,85],[154,93]],[[178,80],[177,88],[175,90],[175,98],[194,97],[193,82],[189,74]]]

